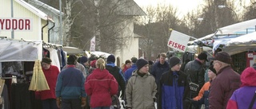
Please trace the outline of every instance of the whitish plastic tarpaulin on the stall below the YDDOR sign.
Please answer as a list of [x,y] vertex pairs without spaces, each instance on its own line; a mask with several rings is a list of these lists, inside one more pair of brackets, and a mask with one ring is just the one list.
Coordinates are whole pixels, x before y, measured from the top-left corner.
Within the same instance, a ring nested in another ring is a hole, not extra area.
[[42,41],[0,40],[0,62],[42,59]]

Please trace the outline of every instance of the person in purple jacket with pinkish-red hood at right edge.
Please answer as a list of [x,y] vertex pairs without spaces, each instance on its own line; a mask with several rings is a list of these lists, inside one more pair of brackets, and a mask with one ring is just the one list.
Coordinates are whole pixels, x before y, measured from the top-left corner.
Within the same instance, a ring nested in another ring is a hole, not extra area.
[[[247,109],[252,102],[256,91],[256,70],[255,68],[246,68],[241,74],[242,85],[234,91],[227,103],[226,109]],[[256,103],[253,103],[253,109]]]

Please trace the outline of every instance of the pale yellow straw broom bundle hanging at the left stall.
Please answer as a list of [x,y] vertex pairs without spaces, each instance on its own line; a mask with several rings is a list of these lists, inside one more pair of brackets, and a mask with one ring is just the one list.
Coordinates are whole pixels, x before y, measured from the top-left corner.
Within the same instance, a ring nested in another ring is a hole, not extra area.
[[35,60],[32,80],[30,81],[30,91],[50,90],[46,76],[42,72],[40,60]]

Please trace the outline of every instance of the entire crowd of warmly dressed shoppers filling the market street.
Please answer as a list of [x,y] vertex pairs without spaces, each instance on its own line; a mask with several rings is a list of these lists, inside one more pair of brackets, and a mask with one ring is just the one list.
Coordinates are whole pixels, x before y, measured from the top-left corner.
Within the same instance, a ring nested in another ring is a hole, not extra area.
[[256,65],[240,76],[225,52],[213,57],[200,53],[185,63],[166,53],[156,61],[132,57],[120,68],[114,55],[106,59],[70,55],[62,71],[50,62],[42,59],[50,91],[36,91],[44,109],[120,108],[119,102],[113,105],[115,96],[123,99],[126,109],[256,108]]

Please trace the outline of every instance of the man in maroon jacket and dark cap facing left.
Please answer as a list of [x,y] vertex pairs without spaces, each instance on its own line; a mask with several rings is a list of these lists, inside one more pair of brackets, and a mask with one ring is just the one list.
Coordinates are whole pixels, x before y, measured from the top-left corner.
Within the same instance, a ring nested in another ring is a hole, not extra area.
[[214,60],[214,69],[218,75],[210,84],[209,108],[226,109],[228,100],[241,84],[240,76],[231,68],[228,53],[219,52],[211,60]]

